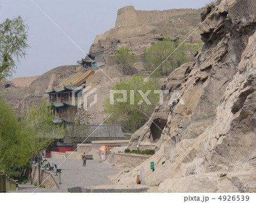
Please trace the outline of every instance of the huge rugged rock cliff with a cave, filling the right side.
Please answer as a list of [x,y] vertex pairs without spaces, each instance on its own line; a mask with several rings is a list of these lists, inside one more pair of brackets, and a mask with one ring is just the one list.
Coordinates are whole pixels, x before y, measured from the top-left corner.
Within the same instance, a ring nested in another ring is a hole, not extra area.
[[[128,146],[156,154],[121,172],[116,184],[134,184],[143,166],[146,184],[160,184],[159,192],[256,192],[255,10],[253,0],[222,0],[201,14],[204,44],[195,63],[170,74],[164,105]],[[166,105],[174,90],[185,105],[179,98]]]

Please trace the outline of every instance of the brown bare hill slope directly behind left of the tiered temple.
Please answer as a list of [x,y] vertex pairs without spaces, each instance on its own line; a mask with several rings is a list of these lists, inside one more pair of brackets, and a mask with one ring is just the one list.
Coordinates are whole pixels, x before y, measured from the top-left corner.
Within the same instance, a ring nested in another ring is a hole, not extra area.
[[43,97],[48,101],[48,94],[44,94],[44,91],[52,89],[65,81],[78,67],[80,66],[64,65],[54,68],[36,78],[28,86],[22,101],[15,106],[16,109],[23,112],[28,105],[31,105],[32,102],[39,103]]

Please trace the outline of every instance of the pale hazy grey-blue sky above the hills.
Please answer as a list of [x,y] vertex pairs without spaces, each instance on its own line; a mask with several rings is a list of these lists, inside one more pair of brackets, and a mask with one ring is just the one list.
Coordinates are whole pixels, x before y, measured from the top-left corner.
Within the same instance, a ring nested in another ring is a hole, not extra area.
[[[0,23],[22,16],[28,26],[26,59],[15,77],[39,76],[60,65],[73,65],[89,52],[96,35],[115,27],[118,9],[199,9],[210,0],[0,0]],[[51,19],[49,19],[48,17]],[[65,33],[63,33],[61,30]],[[10,78],[11,79],[11,78]]]

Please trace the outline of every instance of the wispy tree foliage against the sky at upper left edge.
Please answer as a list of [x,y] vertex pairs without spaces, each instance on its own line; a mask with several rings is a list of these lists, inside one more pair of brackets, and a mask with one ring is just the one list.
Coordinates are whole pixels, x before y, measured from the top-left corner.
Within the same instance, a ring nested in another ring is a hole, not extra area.
[[0,24],[0,81],[15,72],[16,61],[26,55],[28,27],[18,16]]

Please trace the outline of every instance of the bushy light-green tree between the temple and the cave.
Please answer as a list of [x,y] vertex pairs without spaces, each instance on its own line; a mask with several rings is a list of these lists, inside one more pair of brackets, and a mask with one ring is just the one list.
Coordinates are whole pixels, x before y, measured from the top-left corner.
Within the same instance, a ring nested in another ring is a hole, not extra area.
[[[134,132],[146,123],[148,118],[144,113],[150,115],[155,109],[155,105],[159,100],[159,95],[154,93],[158,90],[159,85],[152,81],[144,82],[142,77],[132,77],[129,82],[118,82],[112,87],[112,90],[126,90],[127,101],[118,102],[117,98],[122,98],[122,94],[114,94],[114,105],[110,104],[110,98],[104,102],[104,110],[110,114],[113,112],[106,123],[122,125],[122,129],[126,132]],[[151,104],[147,104],[139,91],[146,94],[148,90],[148,100]],[[134,99],[132,97],[134,93]],[[141,103],[142,101],[142,103]]]

